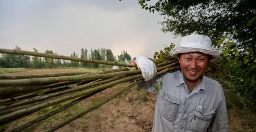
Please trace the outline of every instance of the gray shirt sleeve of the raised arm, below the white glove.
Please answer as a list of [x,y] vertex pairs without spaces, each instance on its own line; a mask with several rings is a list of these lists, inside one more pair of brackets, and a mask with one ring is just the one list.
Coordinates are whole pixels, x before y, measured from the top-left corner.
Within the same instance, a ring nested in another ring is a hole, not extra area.
[[161,82],[161,76],[156,76],[155,78],[153,78],[152,80],[149,80],[147,82],[145,82],[144,80],[142,80],[142,82],[140,82],[138,84],[138,87],[140,89],[144,89],[148,92],[154,92],[154,93],[157,93],[157,91],[155,90],[154,88],[154,84],[155,83],[159,83],[159,87],[160,87],[160,82]]

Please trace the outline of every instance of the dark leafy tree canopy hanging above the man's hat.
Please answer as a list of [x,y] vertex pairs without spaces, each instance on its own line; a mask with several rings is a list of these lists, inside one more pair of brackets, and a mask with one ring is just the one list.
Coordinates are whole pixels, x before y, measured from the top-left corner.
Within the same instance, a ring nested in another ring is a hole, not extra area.
[[[256,2],[254,0],[138,0],[142,8],[164,16],[162,31],[175,35],[198,33],[213,40],[227,36],[238,49],[256,52]],[[216,43],[214,43],[216,44]]]

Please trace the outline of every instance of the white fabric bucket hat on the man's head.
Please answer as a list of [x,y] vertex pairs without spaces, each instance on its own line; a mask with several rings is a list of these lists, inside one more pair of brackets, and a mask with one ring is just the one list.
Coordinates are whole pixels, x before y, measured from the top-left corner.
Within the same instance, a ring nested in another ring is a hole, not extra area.
[[212,56],[212,60],[219,58],[222,51],[220,49],[212,49],[212,40],[206,35],[192,34],[183,37],[180,45],[171,49],[170,54],[177,57],[177,54],[189,52],[202,52]]

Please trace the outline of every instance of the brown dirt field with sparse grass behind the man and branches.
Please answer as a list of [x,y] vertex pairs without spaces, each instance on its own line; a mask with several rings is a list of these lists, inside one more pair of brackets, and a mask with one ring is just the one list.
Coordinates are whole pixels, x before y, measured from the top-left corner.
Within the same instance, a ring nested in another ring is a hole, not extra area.
[[[0,69],[1,74],[46,74],[62,72],[93,72],[108,69],[64,68],[64,69]],[[129,82],[110,87],[84,101],[62,111],[46,120],[35,124],[24,131],[42,132],[71,118],[72,116],[96,105],[119,90],[118,86],[128,86]],[[151,99],[150,99],[151,97]],[[33,118],[54,111],[64,104],[60,103],[44,108],[36,113],[1,126],[0,131],[8,131]],[[151,132],[156,105],[156,94],[132,87],[115,99],[98,107],[96,110],[74,120],[56,132]],[[255,132],[256,114],[243,109],[228,109],[230,132]]]

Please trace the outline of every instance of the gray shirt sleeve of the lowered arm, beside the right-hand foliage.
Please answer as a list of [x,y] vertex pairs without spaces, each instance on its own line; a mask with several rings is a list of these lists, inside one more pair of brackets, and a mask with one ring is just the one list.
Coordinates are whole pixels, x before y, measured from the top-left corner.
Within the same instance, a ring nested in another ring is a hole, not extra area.
[[[221,87],[220,87],[221,88]],[[228,113],[224,92],[221,88],[221,101],[210,124],[210,132],[228,132]]]

